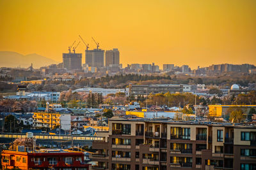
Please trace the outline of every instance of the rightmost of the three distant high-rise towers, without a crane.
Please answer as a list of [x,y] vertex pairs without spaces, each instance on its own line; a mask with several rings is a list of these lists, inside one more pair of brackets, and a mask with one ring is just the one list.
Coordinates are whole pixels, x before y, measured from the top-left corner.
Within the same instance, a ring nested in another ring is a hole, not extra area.
[[105,66],[114,66],[118,67],[120,62],[120,53],[117,48],[113,50],[107,50],[105,53]]

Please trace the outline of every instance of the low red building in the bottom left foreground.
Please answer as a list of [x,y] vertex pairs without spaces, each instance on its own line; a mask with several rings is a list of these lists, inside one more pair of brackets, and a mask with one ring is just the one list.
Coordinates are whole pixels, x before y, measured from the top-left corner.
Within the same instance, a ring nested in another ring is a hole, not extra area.
[[90,164],[83,164],[83,152],[67,150],[40,150],[40,152],[16,152],[4,150],[3,168],[88,170]]

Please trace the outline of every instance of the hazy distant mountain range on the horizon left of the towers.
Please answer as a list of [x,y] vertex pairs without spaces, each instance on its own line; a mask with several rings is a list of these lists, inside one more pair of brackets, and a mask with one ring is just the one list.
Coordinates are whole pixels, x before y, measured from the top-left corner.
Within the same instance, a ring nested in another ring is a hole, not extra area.
[[0,67],[29,67],[34,68],[58,64],[56,60],[49,59],[36,53],[22,55],[17,52],[0,52]]

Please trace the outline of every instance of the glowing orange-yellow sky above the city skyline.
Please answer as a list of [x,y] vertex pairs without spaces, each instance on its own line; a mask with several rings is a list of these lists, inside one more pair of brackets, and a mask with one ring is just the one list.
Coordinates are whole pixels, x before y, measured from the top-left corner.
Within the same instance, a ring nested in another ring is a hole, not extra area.
[[[255,0],[0,1],[0,51],[62,61],[78,35],[120,50],[123,66],[256,64]],[[83,52],[84,45],[77,47]]]

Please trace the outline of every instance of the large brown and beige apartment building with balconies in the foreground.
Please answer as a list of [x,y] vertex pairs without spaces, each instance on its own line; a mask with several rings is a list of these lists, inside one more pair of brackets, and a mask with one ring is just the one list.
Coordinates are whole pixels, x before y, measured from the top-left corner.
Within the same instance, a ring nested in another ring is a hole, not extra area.
[[93,169],[256,169],[253,125],[116,118],[92,146]]

